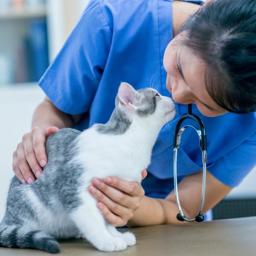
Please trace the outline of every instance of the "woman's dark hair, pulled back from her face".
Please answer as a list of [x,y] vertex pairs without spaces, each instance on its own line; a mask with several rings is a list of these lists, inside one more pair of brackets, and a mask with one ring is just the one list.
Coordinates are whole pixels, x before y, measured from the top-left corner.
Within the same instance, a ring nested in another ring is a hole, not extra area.
[[215,0],[180,28],[184,45],[205,61],[207,92],[222,108],[256,111],[256,1]]

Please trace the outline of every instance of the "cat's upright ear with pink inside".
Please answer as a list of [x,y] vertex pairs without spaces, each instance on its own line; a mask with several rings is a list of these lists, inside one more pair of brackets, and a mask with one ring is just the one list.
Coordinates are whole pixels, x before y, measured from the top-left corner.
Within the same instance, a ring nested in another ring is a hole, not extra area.
[[121,104],[130,108],[136,108],[141,104],[140,93],[131,84],[121,83],[117,95]]

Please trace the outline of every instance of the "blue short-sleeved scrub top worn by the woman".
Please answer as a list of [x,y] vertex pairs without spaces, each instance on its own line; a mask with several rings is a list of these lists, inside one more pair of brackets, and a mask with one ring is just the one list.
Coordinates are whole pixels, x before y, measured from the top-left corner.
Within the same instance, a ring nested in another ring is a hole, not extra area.
[[[106,123],[122,81],[171,97],[163,67],[171,40],[171,0],[92,0],[39,84],[61,111],[84,114],[76,128]],[[142,183],[148,196],[164,198],[173,189],[173,131],[186,109],[176,104],[175,118],[159,134]],[[193,112],[206,127],[207,169],[224,184],[237,186],[256,164],[256,114],[206,117],[195,105]],[[179,180],[202,171],[193,129],[182,135],[177,167]]]

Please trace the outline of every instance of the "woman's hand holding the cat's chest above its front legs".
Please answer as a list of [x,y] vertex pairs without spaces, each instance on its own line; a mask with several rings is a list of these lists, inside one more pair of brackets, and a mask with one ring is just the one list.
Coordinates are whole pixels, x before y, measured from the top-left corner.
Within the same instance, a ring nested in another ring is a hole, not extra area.
[[[145,179],[147,171],[143,170],[141,175]],[[115,227],[127,224],[140,207],[140,200],[145,194],[139,183],[112,176],[104,180],[94,178],[89,192],[99,201],[97,207],[102,215]]]

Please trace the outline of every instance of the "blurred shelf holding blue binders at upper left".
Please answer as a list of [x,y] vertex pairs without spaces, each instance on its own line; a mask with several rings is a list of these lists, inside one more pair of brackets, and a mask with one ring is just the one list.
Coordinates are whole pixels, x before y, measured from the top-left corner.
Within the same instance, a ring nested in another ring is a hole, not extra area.
[[0,0],[0,86],[37,82],[49,65],[45,1]]

